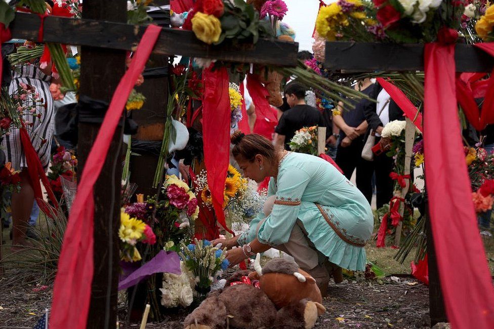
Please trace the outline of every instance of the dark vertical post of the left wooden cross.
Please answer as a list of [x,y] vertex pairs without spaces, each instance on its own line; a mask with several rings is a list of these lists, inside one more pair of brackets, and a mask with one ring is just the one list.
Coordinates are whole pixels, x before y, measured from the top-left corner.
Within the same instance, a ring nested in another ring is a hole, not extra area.
[[[127,4],[85,0],[84,18],[126,22]],[[80,94],[109,102],[125,72],[125,51],[81,49]],[[79,168],[84,165],[100,124],[79,123]],[[114,328],[118,293],[122,131],[118,127],[94,188],[94,275],[87,328]]]

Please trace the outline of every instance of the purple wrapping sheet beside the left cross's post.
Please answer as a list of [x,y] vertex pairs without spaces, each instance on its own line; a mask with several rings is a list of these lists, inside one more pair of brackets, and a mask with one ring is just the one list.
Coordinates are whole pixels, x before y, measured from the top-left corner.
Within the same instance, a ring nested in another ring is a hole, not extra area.
[[118,290],[132,287],[154,273],[182,273],[180,271],[180,258],[175,251],[161,250],[152,260],[135,269],[137,266],[136,263],[121,264],[123,274],[118,283]]

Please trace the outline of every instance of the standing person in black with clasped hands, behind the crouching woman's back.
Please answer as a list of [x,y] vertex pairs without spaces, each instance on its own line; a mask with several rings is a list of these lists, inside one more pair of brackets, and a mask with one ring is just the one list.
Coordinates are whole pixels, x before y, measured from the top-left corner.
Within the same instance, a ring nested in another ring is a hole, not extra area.
[[[359,81],[354,86],[355,90],[369,95],[374,90],[370,79]],[[350,179],[353,170],[356,169],[357,188],[362,192],[370,204],[372,200],[372,175],[374,165],[370,161],[362,159],[362,149],[365,143],[364,134],[367,131],[365,120],[365,107],[376,107],[376,103],[367,99],[361,99],[355,104],[354,109],[345,110],[340,102],[341,115],[334,116],[333,121],[340,128],[340,144],[336,153],[336,163],[343,170],[343,174]]]

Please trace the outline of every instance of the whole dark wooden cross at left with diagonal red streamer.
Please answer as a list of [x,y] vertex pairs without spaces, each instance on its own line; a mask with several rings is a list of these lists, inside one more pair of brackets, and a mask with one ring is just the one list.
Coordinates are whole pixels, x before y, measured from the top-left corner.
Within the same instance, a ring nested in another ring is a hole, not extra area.
[[[169,1],[166,2],[168,4]],[[85,0],[83,19],[49,16],[44,21],[43,42],[80,45],[80,93],[109,102],[125,72],[126,51],[135,49],[145,26],[126,24],[125,1]],[[37,15],[16,13],[10,29],[13,38],[38,41]],[[297,64],[298,44],[259,40],[256,45],[209,46],[192,31],[163,28],[154,54],[213,58],[223,61],[276,66]],[[148,102],[152,102],[148,99]],[[99,124],[79,123],[79,170],[84,170]],[[120,148],[117,128],[102,173],[95,186],[94,277],[88,328],[114,328],[119,273]]]

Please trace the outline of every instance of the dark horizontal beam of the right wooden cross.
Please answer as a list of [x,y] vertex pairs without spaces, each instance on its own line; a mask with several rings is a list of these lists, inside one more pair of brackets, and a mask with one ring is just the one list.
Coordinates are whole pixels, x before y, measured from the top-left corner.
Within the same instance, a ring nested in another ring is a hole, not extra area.
[[[457,44],[458,72],[490,72],[494,58],[472,45]],[[360,42],[327,42],[325,65],[348,72],[423,71],[423,44],[385,44]]]

